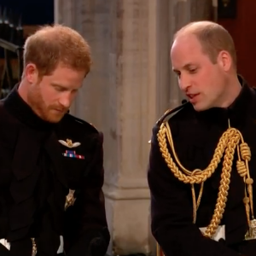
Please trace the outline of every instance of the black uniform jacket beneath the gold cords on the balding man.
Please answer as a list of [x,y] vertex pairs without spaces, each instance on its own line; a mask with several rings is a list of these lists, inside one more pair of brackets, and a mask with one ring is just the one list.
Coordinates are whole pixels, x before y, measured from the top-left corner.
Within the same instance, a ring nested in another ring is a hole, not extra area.
[[[241,131],[251,149],[249,161],[251,177],[256,181],[256,92],[241,81],[241,94],[230,108],[211,108],[195,112],[188,102],[177,108],[167,122],[177,157],[182,165],[193,171],[204,170],[212,160],[218,140],[230,126]],[[214,241],[201,234],[199,228],[207,227],[217,202],[222,160],[218,169],[204,183],[200,207],[193,224],[190,184],[174,177],[160,152],[157,138],[160,124],[154,126],[148,165],[148,184],[151,191],[152,232],[166,256],[238,256],[256,255],[256,241],[244,241],[248,230],[243,198],[245,184],[233,161],[228,201],[220,225],[225,225],[225,238]],[[170,152],[170,147],[169,147]],[[199,195],[195,184],[196,197]],[[256,187],[253,183],[253,198]],[[256,201],[254,202],[255,206]],[[255,212],[255,207],[254,212]],[[240,254],[241,253],[241,254]]]

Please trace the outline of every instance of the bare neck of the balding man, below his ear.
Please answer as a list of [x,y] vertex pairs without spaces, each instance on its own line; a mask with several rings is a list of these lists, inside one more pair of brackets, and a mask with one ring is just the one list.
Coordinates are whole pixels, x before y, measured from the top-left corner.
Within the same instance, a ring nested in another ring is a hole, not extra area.
[[224,92],[224,96],[222,98],[220,108],[229,108],[230,105],[235,102],[237,96],[239,96],[241,92],[241,84],[239,82],[239,79],[236,77],[233,77],[232,79],[229,79],[226,85],[226,90]]

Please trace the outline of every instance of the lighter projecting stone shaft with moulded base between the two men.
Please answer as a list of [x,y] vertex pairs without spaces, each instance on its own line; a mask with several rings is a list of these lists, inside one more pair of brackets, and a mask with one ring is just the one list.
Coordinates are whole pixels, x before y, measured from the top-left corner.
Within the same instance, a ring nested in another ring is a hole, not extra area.
[[156,119],[156,1],[113,4],[106,133],[113,148],[106,151],[104,192],[114,255],[151,253],[146,170]]

